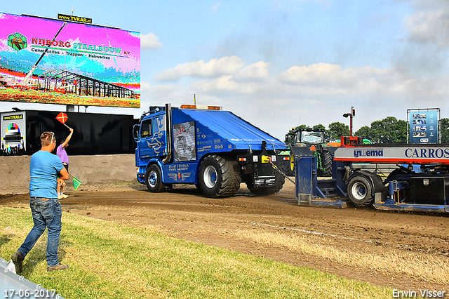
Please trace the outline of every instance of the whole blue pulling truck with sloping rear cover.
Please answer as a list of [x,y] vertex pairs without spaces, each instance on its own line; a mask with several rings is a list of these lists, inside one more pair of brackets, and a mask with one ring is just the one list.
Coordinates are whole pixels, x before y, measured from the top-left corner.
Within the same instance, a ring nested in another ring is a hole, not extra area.
[[285,182],[276,152],[286,144],[221,107],[149,107],[133,135],[137,179],[150,192],[194,184],[206,197],[231,197],[244,182],[274,194]]

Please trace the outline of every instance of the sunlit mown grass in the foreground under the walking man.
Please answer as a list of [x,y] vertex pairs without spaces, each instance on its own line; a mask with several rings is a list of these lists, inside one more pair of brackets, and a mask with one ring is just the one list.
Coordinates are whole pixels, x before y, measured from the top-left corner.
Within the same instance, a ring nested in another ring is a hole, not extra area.
[[[32,227],[29,209],[0,207],[0,257],[9,260]],[[70,298],[391,298],[389,288],[305,267],[174,239],[149,229],[62,215],[60,261],[46,272],[46,234],[23,275]]]

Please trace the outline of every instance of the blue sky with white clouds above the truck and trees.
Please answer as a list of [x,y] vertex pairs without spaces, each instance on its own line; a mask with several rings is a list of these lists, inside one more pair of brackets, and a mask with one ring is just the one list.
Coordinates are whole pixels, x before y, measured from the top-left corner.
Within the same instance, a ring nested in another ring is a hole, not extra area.
[[[354,131],[407,109],[449,117],[447,0],[1,1],[0,11],[140,32],[141,107],[217,105],[283,140],[292,127]],[[0,111],[65,106],[0,102]],[[225,125],[225,124],[224,124]]]

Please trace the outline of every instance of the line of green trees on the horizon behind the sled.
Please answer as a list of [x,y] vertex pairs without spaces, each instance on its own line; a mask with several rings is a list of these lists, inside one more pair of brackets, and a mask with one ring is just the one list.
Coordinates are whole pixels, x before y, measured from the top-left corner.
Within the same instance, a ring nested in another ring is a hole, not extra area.
[[[310,128],[305,124],[297,126],[289,131],[293,133],[297,128]],[[323,124],[317,124],[312,128],[325,130],[327,140],[340,140],[341,136],[349,136],[349,126],[338,121],[329,124],[326,129]],[[440,119],[441,143],[449,143],[449,119]],[[387,117],[380,121],[373,121],[370,126],[363,126],[354,132],[354,136],[361,136],[373,143],[407,143],[407,121]],[[288,143],[288,139],[286,142]]]

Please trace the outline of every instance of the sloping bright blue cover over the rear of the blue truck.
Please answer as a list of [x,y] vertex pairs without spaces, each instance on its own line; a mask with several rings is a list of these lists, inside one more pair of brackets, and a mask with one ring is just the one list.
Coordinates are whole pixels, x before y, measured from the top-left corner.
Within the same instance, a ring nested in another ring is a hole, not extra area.
[[252,150],[260,150],[263,140],[267,142],[267,150],[273,150],[273,147],[275,150],[286,148],[284,142],[237,117],[232,112],[200,109],[180,110],[203,126],[207,126],[221,138],[226,138],[228,142],[236,146],[236,149],[249,149],[248,145],[250,145]]

